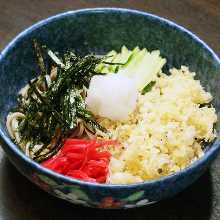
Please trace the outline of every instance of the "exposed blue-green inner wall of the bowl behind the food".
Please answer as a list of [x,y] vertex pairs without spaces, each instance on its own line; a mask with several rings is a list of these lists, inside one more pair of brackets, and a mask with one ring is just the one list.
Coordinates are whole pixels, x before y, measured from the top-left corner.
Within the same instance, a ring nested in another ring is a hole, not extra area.
[[[122,45],[159,49],[170,67],[189,66],[197,73],[220,109],[220,64],[204,44],[183,29],[152,15],[119,9],[69,12],[40,22],[20,34],[0,56],[0,129],[8,135],[5,118],[17,92],[38,72],[32,40],[54,51],[73,48],[77,53],[104,54]],[[220,131],[220,123],[216,125]]]

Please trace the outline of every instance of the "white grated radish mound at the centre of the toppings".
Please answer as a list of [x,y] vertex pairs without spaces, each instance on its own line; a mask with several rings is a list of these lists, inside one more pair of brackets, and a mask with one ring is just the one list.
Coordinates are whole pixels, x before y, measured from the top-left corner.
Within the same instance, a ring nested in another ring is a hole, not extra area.
[[93,114],[111,120],[126,120],[134,111],[138,97],[135,83],[120,74],[93,76],[86,104]]

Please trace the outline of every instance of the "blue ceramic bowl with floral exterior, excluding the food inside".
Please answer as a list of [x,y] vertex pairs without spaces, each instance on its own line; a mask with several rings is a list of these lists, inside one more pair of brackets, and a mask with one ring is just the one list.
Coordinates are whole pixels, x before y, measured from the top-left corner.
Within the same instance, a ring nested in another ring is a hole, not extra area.
[[[178,173],[131,185],[105,185],[64,177],[26,157],[10,139],[6,115],[16,95],[34,77],[37,66],[32,49],[36,38],[54,51],[74,48],[80,54],[104,54],[109,50],[146,47],[159,49],[170,67],[189,66],[197,73],[213,105],[220,109],[220,61],[198,37],[158,16],[119,8],[94,8],[65,12],[24,30],[0,54],[0,136],[2,147],[14,166],[48,193],[74,204],[99,208],[131,208],[172,197],[201,176],[220,149],[219,137],[206,146],[205,155]],[[220,124],[216,125],[219,134]]]

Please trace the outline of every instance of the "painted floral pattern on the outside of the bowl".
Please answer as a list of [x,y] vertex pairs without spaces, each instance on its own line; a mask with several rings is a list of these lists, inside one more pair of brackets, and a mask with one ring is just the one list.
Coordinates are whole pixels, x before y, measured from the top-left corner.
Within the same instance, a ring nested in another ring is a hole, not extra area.
[[45,177],[43,175],[32,176],[32,181],[35,182],[44,191],[55,195],[58,198],[67,200],[76,205],[83,205],[88,207],[98,207],[104,209],[117,209],[117,208],[134,208],[144,205],[150,205],[155,201],[149,201],[144,198],[144,191],[135,192],[128,197],[115,199],[112,196],[106,196],[99,201],[94,202],[93,199],[77,185],[64,185],[58,184],[56,181]]

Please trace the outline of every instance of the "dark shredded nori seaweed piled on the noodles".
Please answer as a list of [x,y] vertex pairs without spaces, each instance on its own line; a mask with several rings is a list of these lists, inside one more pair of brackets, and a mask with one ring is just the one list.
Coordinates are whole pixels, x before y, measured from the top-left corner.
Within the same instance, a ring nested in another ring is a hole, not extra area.
[[[43,53],[48,51],[45,48],[34,41],[40,74],[38,78],[29,82],[28,97],[25,99],[21,95],[18,96],[17,106],[17,111],[25,115],[19,123],[22,141],[43,143],[42,149],[35,152],[33,157],[37,161],[48,158],[48,155],[51,156],[52,152],[57,151],[59,144],[54,144],[56,147],[42,155],[45,146],[51,144],[56,129],[60,129],[62,137],[65,137],[70,130],[78,126],[79,121],[83,121],[92,132],[107,132],[86,109],[83,95],[84,88],[88,88],[92,76],[103,74],[95,69],[104,58],[94,55],[77,56],[72,51],[67,51],[59,58],[64,67],[52,59],[51,65],[57,67],[57,77],[48,85],[46,76],[50,73],[51,66],[47,68],[45,65],[43,57],[46,54]],[[40,87],[42,84],[43,88]]]

